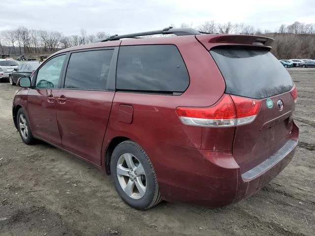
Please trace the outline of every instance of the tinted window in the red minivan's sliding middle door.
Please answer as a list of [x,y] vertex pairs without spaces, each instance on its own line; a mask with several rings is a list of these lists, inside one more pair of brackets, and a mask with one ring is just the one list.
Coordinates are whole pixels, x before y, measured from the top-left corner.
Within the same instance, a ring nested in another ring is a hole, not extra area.
[[106,90],[114,50],[72,53],[65,74],[64,88]]

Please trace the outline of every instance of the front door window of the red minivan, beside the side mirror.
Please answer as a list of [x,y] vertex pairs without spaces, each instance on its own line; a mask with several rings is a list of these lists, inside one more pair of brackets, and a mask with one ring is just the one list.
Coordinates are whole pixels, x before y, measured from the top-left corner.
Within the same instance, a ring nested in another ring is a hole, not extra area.
[[36,77],[36,88],[58,88],[64,59],[65,55],[50,59],[38,70]]

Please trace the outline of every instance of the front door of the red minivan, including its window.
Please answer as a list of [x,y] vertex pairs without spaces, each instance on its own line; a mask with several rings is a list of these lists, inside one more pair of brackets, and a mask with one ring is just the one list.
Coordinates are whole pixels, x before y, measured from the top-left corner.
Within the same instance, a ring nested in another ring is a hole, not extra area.
[[28,112],[35,137],[61,146],[56,103],[60,89],[66,55],[54,57],[39,68],[34,75],[34,88],[28,94]]

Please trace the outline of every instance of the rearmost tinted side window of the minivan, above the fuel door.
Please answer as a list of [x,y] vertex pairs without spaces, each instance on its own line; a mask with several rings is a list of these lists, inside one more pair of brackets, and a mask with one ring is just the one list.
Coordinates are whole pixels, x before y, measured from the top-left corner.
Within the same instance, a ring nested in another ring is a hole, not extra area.
[[188,86],[188,71],[176,46],[120,47],[116,89],[184,92]]

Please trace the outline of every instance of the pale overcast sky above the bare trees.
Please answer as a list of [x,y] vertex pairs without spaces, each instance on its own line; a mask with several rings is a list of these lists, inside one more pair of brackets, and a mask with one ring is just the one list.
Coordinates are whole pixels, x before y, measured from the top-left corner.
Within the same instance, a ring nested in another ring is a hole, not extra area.
[[0,0],[0,30],[122,34],[209,20],[269,30],[294,21],[315,23],[315,0]]

